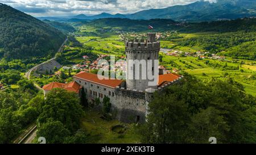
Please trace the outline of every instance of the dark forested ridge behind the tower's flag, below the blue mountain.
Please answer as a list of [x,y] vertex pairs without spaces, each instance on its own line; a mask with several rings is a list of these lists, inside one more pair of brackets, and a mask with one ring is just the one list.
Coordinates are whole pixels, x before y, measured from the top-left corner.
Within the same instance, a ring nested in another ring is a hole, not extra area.
[[216,22],[187,23],[175,22],[171,19],[150,19],[150,20],[131,20],[124,18],[105,18],[96,19],[92,22],[84,23],[85,26],[99,28],[112,27],[122,31],[147,31],[150,24],[154,27],[153,31],[179,31],[179,32],[251,32],[256,30],[256,18],[244,18],[236,20],[224,20]]

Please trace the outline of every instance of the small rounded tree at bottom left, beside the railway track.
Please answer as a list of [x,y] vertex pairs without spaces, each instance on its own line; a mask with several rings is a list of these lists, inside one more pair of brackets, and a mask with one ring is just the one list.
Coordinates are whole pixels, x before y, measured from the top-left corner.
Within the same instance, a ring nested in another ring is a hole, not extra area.
[[37,137],[45,137],[47,144],[62,144],[71,133],[60,121],[48,119],[36,132]]

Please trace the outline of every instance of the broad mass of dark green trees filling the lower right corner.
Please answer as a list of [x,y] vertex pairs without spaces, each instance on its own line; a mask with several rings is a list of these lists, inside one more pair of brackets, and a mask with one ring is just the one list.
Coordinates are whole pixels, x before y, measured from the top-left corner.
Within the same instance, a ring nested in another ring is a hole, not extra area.
[[255,100],[232,79],[203,82],[185,75],[154,94],[139,135],[142,143],[209,143],[209,137],[218,143],[253,143]]

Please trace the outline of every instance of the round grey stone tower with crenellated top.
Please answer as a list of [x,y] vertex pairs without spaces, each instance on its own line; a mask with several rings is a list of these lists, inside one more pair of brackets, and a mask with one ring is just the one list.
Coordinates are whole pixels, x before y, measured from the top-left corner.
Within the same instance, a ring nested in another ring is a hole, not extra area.
[[[157,86],[150,86],[148,82],[148,72],[159,73],[158,69],[154,70],[154,60],[158,60],[160,51],[160,42],[156,41],[156,33],[147,33],[147,40],[127,41],[125,44],[126,52],[126,87],[131,90],[145,91],[148,88],[156,89]],[[131,63],[130,60],[133,60]],[[148,65],[148,60],[152,60],[152,65]],[[138,61],[140,63],[138,63]],[[142,67],[146,62],[146,68]],[[156,72],[155,72],[156,71]],[[131,74],[133,73],[133,74]],[[145,75],[146,74],[146,75]],[[137,75],[137,76],[136,76]],[[138,78],[139,75],[139,78]],[[144,78],[146,76],[146,78]],[[133,77],[133,78],[131,78]],[[157,76],[158,78],[158,76]],[[156,79],[158,81],[158,79]]]

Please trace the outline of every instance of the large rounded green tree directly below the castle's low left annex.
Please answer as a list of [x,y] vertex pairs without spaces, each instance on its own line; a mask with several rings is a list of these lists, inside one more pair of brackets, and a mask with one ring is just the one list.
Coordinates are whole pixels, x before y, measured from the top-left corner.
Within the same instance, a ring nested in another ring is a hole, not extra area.
[[83,114],[82,106],[76,93],[64,89],[53,89],[46,95],[39,123],[46,123],[48,118],[63,123],[69,131],[74,132],[80,127]]

